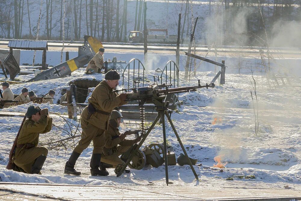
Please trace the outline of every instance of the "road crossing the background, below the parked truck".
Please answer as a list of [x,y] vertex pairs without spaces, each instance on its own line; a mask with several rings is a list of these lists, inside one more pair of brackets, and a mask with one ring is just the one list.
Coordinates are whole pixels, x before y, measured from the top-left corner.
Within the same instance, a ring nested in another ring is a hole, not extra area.
[[[8,41],[0,41],[0,49],[9,49],[7,47]],[[49,51],[61,51],[62,43],[59,42],[48,42],[48,50]],[[82,46],[81,43],[64,43],[64,51],[77,51],[78,47]],[[135,52],[135,53],[143,53],[144,47],[143,45],[129,45],[126,43],[122,44],[104,44],[106,48],[106,52]],[[257,47],[256,47],[257,48]],[[166,55],[174,55],[176,47],[175,46],[147,46],[148,52],[155,54],[166,54]],[[208,52],[208,47],[199,46],[196,48],[198,55],[206,55]],[[180,54],[185,55],[184,51],[188,51],[188,47],[182,46],[180,47]],[[232,56],[232,57],[250,57],[250,58],[258,58],[259,57],[259,47],[257,49],[237,49],[231,46],[224,46],[217,49],[218,56]],[[266,50],[264,50],[266,52]],[[300,48],[274,48],[270,50],[271,54],[274,58],[301,58],[301,49]],[[215,51],[212,48],[208,56],[214,56]],[[265,53],[266,55],[266,53]]]

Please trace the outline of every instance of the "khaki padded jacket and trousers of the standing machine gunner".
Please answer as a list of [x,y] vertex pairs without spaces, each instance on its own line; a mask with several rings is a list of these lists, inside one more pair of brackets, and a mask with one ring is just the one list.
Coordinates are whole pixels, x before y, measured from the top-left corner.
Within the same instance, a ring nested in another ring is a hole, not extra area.
[[[111,113],[114,108],[121,104],[119,96],[113,92],[113,89],[105,80],[96,86],[88,102],[92,104],[94,108],[108,113]],[[84,108],[80,116],[82,136],[74,151],[82,153],[82,151],[90,145],[91,141],[93,141],[93,153],[101,154],[106,143],[104,131],[108,129],[110,116],[95,112],[90,119],[87,119],[88,106]]]

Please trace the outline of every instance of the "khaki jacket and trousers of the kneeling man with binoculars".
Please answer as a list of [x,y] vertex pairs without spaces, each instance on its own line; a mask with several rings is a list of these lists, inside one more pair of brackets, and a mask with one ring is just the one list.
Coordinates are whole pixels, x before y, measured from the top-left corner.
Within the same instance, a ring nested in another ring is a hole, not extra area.
[[24,121],[23,127],[17,140],[17,145],[30,143],[34,147],[30,149],[16,148],[13,157],[14,163],[22,168],[26,173],[31,173],[31,166],[40,155],[47,156],[48,149],[37,147],[40,133],[47,133],[52,128],[52,118],[47,115],[41,116],[40,120],[35,122],[31,118]]

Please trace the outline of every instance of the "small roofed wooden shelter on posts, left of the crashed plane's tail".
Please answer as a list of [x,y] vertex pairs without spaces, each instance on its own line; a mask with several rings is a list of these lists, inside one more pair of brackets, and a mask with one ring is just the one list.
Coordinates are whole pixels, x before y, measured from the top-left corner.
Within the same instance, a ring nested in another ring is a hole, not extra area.
[[35,40],[10,40],[8,42],[9,51],[12,54],[13,49],[23,50],[42,50],[42,70],[46,70],[46,50],[48,50],[47,41]]

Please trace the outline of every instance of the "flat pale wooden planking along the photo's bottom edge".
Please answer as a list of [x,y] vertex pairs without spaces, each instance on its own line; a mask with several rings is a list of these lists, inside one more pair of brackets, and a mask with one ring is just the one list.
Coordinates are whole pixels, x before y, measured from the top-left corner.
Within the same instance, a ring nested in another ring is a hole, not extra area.
[[246,200],[289,201],[300,200],[301,195],[293,189],[247,188],[247,187],[178,187],[90,186],[67,184],[32,184],[0,182],[3,200]]

